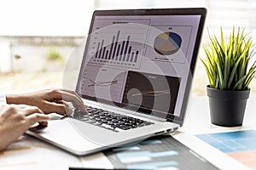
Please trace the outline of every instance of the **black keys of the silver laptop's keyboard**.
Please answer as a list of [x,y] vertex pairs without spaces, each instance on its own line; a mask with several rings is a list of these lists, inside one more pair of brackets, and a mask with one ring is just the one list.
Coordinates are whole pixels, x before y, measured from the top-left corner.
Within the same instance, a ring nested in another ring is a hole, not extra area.
[[113,130],[114,132],[154,124],[153,122],[143,121],[131,116],[124,116],[112,111],[104,111],[90,106],[87,106],[87,112],[87,114],[84,114],[84,112],[79,109],[75,109],[72,117],[82,122]]

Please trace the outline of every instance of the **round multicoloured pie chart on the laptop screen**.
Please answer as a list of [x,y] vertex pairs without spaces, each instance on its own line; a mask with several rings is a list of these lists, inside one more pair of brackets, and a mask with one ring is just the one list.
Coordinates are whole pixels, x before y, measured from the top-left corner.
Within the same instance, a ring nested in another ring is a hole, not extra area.
[[161,55],[175,54],[181,44],[182,38],[174,32],[164,32],[154,38],[154,50]]

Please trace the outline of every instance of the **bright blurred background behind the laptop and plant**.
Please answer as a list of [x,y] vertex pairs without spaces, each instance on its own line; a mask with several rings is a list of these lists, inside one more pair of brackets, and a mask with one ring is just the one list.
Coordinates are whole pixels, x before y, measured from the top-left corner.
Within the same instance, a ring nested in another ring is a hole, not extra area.
[[[95,9],[205,7],[208,32],[230,35],[233,26],[245,28],[256,42],[255,0],[6,0],[0,1],[0,91],[21,93],[62,88],[65,65],[90,26]],[[199,57],[204,58],[201,48]],[[198,60],[193,95],[206,95],[206,72]],[[256,92],[255,78],[251,84]]]

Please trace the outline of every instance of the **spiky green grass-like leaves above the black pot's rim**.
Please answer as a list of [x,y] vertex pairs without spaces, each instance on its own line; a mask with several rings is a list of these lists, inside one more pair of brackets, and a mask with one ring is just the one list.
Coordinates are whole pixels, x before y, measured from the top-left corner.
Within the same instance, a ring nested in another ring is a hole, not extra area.
[[[253,37],[244,29],[235,29],[225,41],[220,28],[220,37],[210,36],[204,46],[206,59],[201,59],[210,87],[222,90],[246,90],[256,73],[253,61],[255,46]],[[250,61],[250,63],[249,63]]]

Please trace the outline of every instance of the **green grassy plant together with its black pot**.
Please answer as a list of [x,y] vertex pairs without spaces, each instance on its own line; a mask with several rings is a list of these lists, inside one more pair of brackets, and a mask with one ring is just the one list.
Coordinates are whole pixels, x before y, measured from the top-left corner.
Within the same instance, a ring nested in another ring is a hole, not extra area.
[[244,29],[233,28],[225,41],[221,28],[219,39],[210,35],[209,39],[204,47],[206,59],[201,61],[210,83],[207,96],[211,122],[224,127],[241,126],[250,94],[248,86],[256,73],[253,38]]

